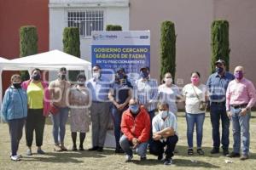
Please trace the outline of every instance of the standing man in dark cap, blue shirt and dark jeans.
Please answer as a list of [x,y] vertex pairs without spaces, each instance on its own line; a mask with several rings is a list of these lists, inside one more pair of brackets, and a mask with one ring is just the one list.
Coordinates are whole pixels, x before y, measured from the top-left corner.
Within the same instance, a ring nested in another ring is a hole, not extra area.
[[215,63],[216,72],[213,73],[207,81],[207,87],[210,95],[210,114],[212,122],[212,140],[213,148],[211,153],[219,153],[220,134],[219,134],[219,120],[222,122],[222,149],[224,156],[229,154],[230,144],[230,119],[226,113],[225,94],[228,84],[235,77],[230,72],[225,70],[225,62],[218,59]]

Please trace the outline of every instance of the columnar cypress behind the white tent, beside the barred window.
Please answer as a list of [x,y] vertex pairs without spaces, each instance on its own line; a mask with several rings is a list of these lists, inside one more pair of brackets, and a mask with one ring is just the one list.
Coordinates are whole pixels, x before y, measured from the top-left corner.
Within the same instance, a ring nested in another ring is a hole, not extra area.
[[[78,27],[66,27],[63,31],[63,51],[80,58],[80,36]],[[80,71],[68,71],[69,80],[75,82]]]

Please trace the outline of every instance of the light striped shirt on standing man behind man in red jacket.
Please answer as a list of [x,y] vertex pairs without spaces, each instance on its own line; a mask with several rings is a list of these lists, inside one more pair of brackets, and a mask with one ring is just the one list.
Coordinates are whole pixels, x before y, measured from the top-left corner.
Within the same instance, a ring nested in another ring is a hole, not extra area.
[[143,78],[137,80],[134,85],[134,96],[137,97],[139,104],[146,105],[148,111],[154,111],[158,98],[158,85],[155,79]]

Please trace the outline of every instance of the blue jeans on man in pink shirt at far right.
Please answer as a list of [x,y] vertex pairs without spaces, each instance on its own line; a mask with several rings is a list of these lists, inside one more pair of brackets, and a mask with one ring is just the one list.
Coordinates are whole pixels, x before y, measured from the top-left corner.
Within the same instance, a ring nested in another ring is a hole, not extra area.
[[249,146],[250,146],[250,118],[251,112],[247,111],[245,116],[241,116],[241,108],[235,109],[231,106],[230,111],[232,113],[231,122],[233,127],[233,151],[235,153],[241,153],[242,155],[249,154]]

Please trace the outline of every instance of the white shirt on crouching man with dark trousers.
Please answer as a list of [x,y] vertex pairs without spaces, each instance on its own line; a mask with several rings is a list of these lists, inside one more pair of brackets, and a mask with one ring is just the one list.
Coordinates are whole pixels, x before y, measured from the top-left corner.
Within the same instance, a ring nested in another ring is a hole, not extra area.
[[[154,116],[152,120],[152,133],[160,132],[166,127],[172,127],[175,133],[177,134],[177,119],[172,112],[168,112],[168,116],[165,120],[162,119],[160,114]],[[162,140],[161,140],[162,141]]]

